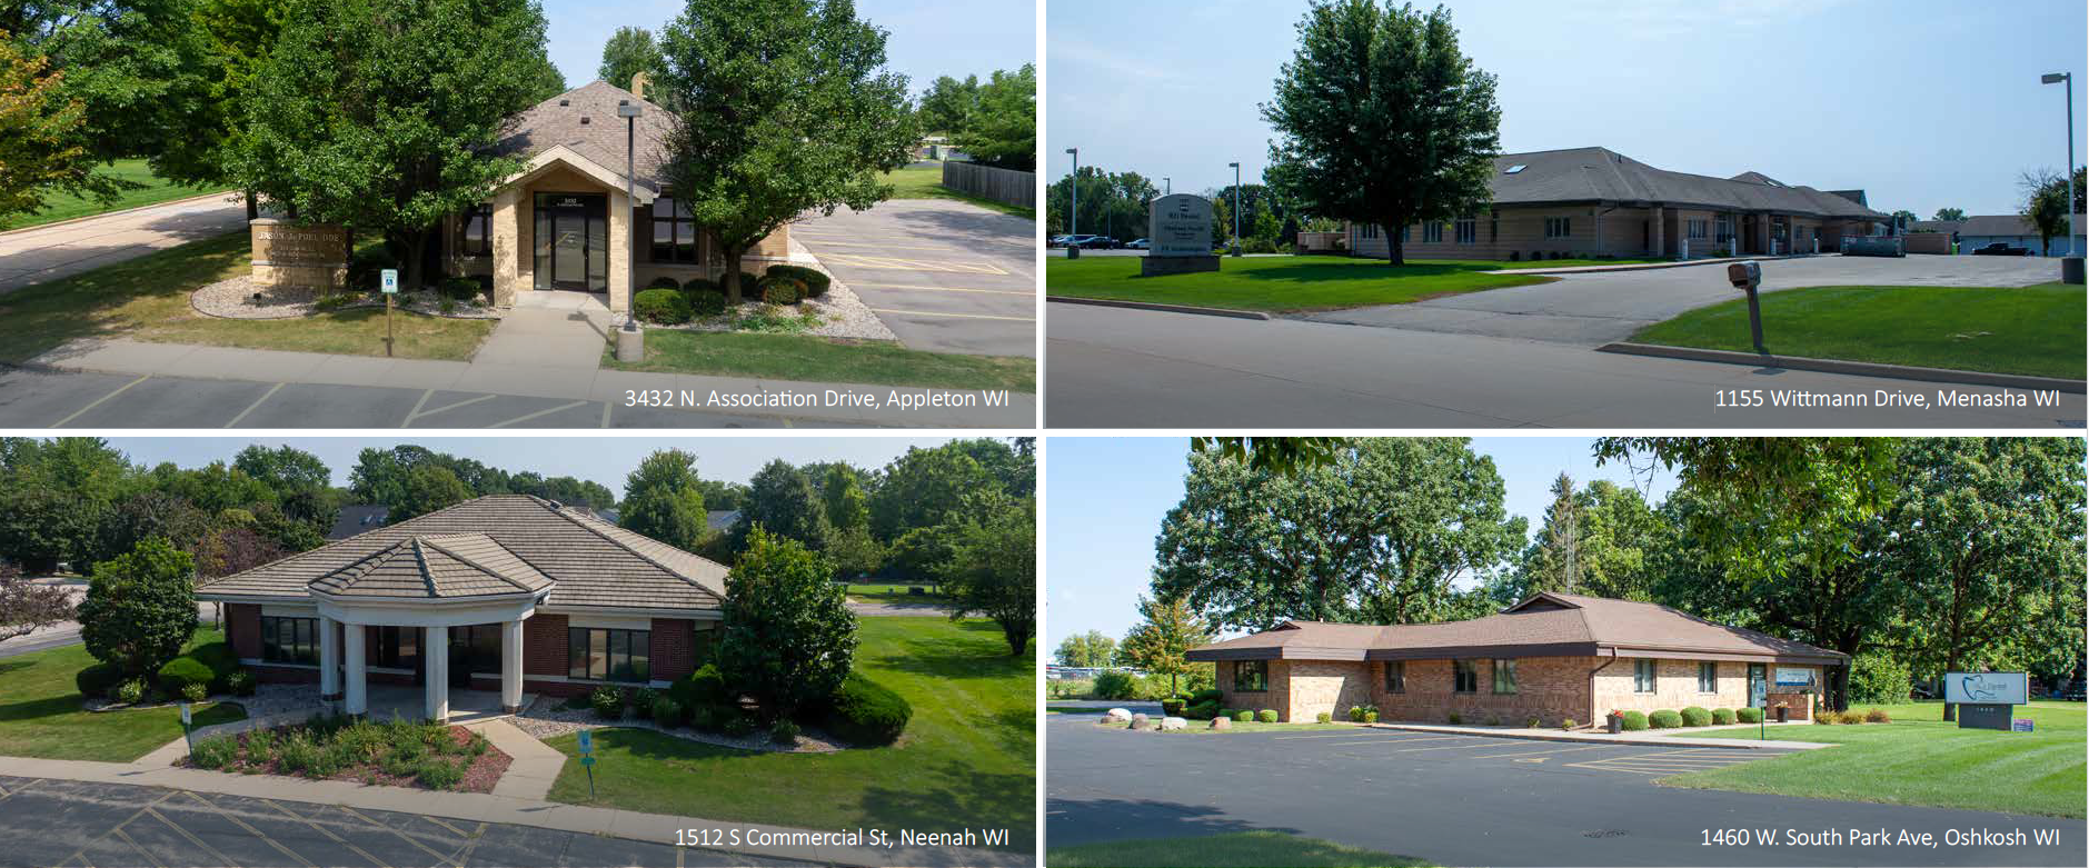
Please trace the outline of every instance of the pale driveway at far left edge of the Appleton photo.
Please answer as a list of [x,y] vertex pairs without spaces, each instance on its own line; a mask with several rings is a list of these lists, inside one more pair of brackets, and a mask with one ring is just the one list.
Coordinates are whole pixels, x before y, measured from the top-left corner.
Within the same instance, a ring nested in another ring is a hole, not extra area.
[[0,294],[247,225],[247,200],[211,194],[0,234]]

